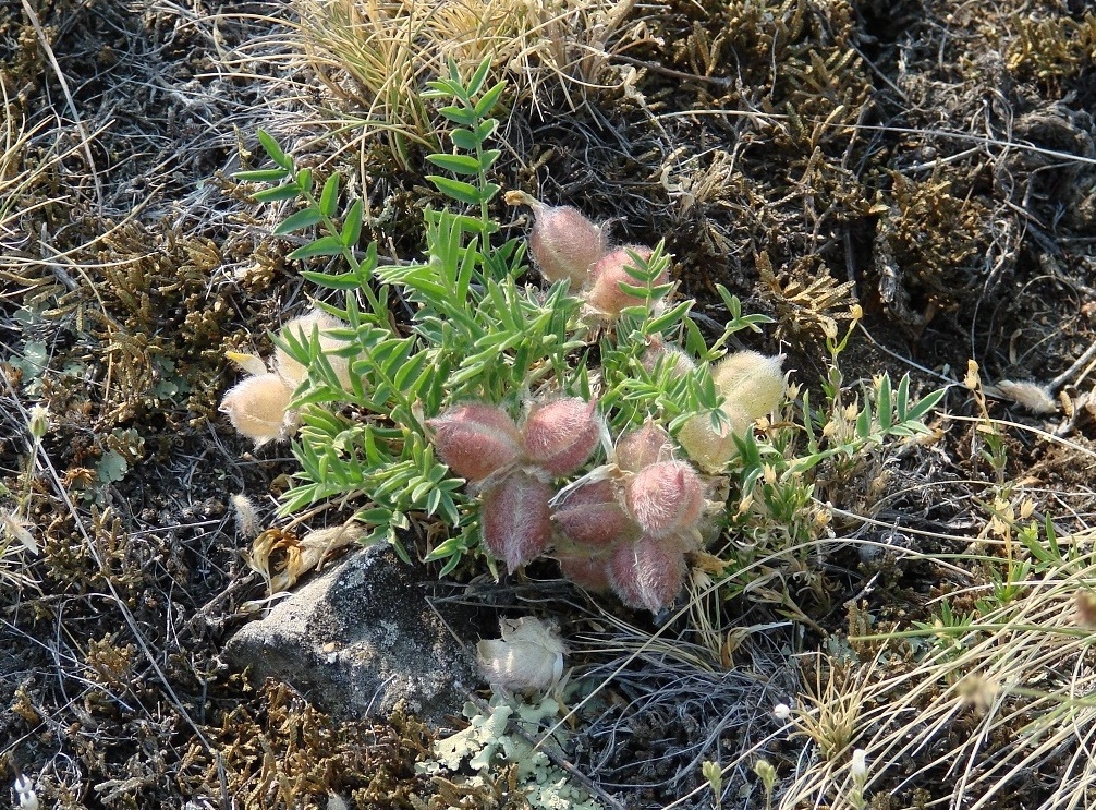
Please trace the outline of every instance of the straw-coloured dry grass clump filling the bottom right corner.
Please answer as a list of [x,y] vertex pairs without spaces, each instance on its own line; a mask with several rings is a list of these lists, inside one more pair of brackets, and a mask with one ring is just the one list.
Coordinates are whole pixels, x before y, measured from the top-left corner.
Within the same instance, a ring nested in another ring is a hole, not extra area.
[[[1074,611],[1096,574],[1092,543],[1092,534],[1063,539],[1073,556],[1016,583],[1017,598],[956,626],[849,638],[880,644],[878,653],[852,665],[855,677],[831,677],[800,708],[798,726],[820,755],[796,775],[780,807],[845,806],[854,745],[870,763],[868,794],[874,783],[897,780],[899,791],[954,783],[949,808],[992,808],[1017,779],[1053,772],[1060,784],[1030,807],[1077,806],[1096,777],[1093,636]],[[900,663],[903,647],[923,651],[914,665]],[[833,673],[850,664],[825,657],[821,665]],[[909,773],[911,761],[918,764]]]

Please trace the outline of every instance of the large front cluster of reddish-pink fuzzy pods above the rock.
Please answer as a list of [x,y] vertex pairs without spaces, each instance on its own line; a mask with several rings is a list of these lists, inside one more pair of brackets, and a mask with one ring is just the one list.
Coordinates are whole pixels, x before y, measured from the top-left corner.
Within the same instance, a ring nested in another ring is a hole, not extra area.
[[566,577],[631,607],[657,612],[681,591],[704,484],[672,457],[660,427],[625,434],[615,465],[557,493],[552,482],[576,472],[597,445],[595,403],[539,402],[521,426],[499,407],[467,403],[427,424],[438,457],[479,489],[483,543],[509,570],[553,548]]

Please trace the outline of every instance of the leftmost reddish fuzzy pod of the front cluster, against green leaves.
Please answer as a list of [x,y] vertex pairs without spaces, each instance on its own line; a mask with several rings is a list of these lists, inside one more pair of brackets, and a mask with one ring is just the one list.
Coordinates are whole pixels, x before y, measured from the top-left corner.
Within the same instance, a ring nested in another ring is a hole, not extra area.
[[522,434],[505,411],[469,403],[426,420],[437,455],[469,481],[482,481],[522,457]]

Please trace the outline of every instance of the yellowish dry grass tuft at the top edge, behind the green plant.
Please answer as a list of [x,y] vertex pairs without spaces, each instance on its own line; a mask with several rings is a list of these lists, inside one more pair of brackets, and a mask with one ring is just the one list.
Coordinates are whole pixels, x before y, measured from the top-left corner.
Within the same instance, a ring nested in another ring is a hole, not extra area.
[[437,149],[425,81],[453,60],[470,75],[490,57],[489,81],[506,78],[535,105],[560,90],[576,109],[612,81],[609,57],[635,0],[296,0],[301,58],[363,132]]

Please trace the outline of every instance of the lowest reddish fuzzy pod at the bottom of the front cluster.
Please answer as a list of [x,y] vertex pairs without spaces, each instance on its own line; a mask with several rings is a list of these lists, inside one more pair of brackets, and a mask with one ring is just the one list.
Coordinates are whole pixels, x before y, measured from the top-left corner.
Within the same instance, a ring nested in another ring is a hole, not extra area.
[[658,613],[681,593],[685,555],[671,540],[640,537],[614,549],[608,577],[613,592],[628,607]]

